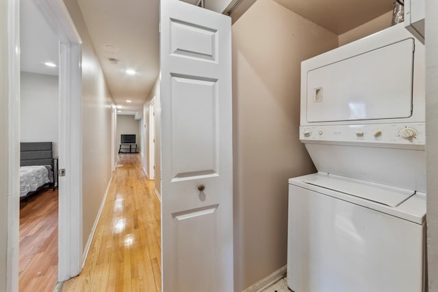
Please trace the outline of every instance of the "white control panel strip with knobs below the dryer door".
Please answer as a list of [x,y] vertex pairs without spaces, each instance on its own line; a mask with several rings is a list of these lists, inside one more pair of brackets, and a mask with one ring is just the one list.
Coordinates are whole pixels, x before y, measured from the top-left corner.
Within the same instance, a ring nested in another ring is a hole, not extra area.
[[350,124],[300,127],[300,140],[426,144],[426,124]]

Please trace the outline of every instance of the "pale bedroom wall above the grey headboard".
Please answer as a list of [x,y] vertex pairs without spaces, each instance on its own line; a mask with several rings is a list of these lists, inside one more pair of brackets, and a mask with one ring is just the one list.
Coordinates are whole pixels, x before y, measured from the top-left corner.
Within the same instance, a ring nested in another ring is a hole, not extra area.
[[58,156],[59,88],[58,77],[21,72],[21,142],[53,142]]

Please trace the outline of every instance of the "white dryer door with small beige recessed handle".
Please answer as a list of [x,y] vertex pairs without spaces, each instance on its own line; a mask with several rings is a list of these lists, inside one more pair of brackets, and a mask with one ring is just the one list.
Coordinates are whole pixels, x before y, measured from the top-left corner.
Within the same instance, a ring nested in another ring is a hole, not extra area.
[[414,40],[307,72],[307,122],[409,118]]

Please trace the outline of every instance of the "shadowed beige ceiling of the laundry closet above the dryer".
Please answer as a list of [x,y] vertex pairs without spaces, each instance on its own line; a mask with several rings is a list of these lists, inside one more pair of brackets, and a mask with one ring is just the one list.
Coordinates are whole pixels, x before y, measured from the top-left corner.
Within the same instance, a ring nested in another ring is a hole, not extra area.
[[394,0],[274,0],[339,35],[392,10]]

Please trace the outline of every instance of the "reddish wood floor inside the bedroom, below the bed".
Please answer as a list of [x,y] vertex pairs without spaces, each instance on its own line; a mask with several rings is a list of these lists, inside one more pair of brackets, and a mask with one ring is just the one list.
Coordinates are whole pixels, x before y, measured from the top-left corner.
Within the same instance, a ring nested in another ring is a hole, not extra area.
[[19,291],[53,291],[57,282],[57,189],[20,204]]

